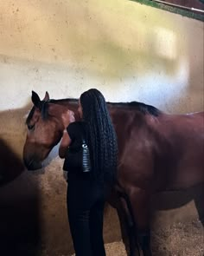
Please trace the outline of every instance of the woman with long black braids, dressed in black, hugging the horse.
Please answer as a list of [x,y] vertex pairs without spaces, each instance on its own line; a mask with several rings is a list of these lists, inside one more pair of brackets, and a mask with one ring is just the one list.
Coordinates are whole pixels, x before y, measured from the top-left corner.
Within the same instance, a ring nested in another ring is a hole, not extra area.
[[80,144],[85,136],[92,168],[89,173],[79,168],[68,170],[68,220],[76,256],[105,256],[103,214],[107,188],[116,179],[117,138],[99,90],[89,89],[80,95],[78,111],[81,121],[74,121],[72,112],[62,116],[66,130],[59,155],[64,158],[67,147]]

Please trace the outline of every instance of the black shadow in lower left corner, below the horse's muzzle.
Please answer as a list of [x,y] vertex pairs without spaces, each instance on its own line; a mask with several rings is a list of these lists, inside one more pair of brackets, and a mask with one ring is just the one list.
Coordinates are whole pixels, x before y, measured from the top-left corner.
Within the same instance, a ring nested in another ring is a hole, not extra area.
[[0,188],[1,255],[35,256],[41,239],[38,189],[22,176]]

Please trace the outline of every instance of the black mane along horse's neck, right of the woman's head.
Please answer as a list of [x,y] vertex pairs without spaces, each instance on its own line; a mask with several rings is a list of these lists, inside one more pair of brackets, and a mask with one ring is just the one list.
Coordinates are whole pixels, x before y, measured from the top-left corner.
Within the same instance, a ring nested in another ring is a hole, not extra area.
[[116,106],[118,108],[136,108],[140,112],[143,113],[143,115],[154,115],[158,116],[162,112],[158,108],[144,104],[143,102],[107,102],[110,106]]

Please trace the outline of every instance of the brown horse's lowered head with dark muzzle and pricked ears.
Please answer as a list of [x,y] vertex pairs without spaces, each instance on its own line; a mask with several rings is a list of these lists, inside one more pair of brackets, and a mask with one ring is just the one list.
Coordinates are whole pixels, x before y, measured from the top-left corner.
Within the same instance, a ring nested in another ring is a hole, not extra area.
[[42,167],[41,162],[61,141],[64,129],[61,115],[68,107],[60,100],[50,100],[48,92],[41,100],[39,95],[32,91],[31,100],[34,106],[26,120],[28,131],[23,147],[23,161],[29,170],[36,170]]

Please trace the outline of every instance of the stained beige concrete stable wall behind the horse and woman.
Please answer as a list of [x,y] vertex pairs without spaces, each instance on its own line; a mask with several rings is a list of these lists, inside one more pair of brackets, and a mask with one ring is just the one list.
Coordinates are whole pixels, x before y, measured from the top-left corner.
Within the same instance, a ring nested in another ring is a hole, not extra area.
[[[19,163],[31,90],[64,98],[94,87],[107,101],[200,111],[203,29],[199,21],[128,0],[0,0],[0,148],[12,155],[1,157],[0,182],[16,178],[0,188],[3,236],[11,230],[13,240],[33,241],[33,232],[50,256],[72,248],[57,148],[37,174]],[[107,208],[105,241],[118,239],[118,219]]]

